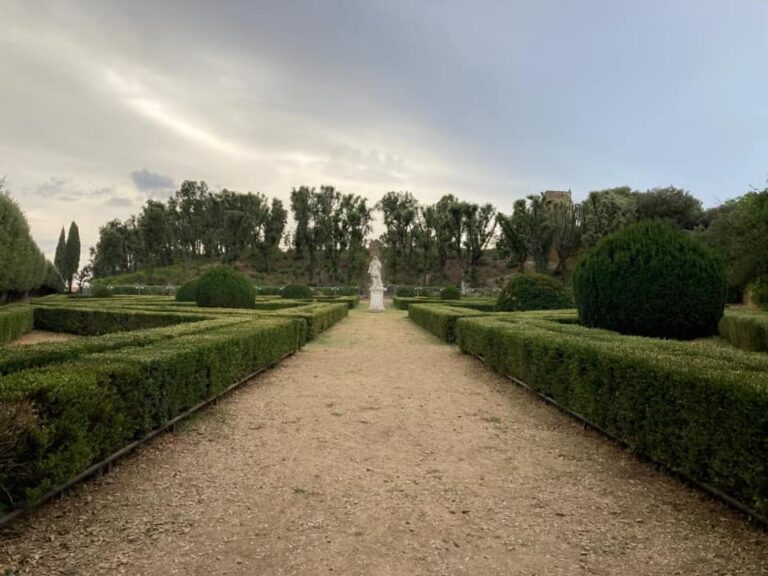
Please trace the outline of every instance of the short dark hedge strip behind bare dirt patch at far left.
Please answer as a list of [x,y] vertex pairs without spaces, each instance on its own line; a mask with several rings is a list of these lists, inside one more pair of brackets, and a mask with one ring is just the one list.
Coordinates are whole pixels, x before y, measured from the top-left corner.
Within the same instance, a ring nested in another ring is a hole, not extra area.
[[36,328],[81,336],[158,328],[205,318],[200,314],[65,306],[35,306],[34,314]]

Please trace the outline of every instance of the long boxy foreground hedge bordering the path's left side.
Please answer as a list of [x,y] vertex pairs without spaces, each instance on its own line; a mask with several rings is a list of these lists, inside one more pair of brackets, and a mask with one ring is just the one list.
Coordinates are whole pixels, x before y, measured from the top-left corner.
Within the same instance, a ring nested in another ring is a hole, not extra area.
[[3,438],[13,448],[0,466],[0,509],[38,501],[132,440],[295,351],[305,335],[299,320],[258,319],[0,377],[0,405],[26,414],[23,425],[6,430],[16,437]]

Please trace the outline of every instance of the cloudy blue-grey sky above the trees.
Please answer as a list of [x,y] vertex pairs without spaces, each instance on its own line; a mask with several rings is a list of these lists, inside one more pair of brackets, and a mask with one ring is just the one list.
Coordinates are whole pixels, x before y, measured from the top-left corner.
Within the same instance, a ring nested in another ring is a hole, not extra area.
[[0,176],[52,257],[184,180],[511,210],[765,187],[765,0],[0,0]]

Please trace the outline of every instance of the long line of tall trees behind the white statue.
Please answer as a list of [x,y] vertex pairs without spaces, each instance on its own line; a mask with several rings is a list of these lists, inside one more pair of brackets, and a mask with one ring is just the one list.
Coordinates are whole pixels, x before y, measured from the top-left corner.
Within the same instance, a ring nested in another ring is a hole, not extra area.
[[[364,282],[379,213],[389,282],[472,282],[489,259],[567,278],[575,258],[603,237],[639,220],[663,219],[723,254],[732,284],[741,289],[767,272],[768,246],[750,248],[765,242],[740,239],[768,226],[766,197],[766,190],[753,191],[704,210],[680,188],[621,186],[592,191],[578,203],[570,193],[534,194],[504,213],[454,195],[424,204],[410,192],[392,191],[370,204],[333,186],[300,186],[286,209],[263,194],[214,192],[205,182],[186,181],[166,202],[149,200],[139,214],[102,226],[93,272],[103,277],[177,263],[245,261],[260,272],[289,269],[311,284]],[[287,230],[289,211],[293,227]]]

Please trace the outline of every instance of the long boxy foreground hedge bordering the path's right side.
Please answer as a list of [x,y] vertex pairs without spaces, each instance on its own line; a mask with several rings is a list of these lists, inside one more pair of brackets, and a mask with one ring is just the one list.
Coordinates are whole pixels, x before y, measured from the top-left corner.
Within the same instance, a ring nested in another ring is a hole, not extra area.
[[768,357],[557,320],[462,318],[456,340],[638,454],[768,512]]

